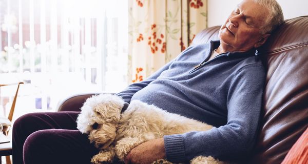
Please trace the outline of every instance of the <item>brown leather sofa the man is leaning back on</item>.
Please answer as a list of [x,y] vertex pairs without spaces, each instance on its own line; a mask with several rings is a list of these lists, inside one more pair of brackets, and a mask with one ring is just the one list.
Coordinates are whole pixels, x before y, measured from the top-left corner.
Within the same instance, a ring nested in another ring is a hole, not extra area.
[[[219,28],[201,31],[192,44],[217,40]],[[258,140],[248,163],[281,163],[308,126],[308,16],[285,20],[256,53],[267,76]],[[91,95],[69,97],[59,111],[77,111]]]

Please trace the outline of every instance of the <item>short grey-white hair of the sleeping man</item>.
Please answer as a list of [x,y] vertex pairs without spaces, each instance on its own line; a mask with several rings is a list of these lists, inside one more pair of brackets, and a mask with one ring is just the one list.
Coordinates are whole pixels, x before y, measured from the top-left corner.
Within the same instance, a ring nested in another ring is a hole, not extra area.
[[263,6],[269,12],[265,24],[261,27],[261,33],[271,33],[278,26],[283,24],[284,18],[280,5],[275,0],[254,0],[255,3]]

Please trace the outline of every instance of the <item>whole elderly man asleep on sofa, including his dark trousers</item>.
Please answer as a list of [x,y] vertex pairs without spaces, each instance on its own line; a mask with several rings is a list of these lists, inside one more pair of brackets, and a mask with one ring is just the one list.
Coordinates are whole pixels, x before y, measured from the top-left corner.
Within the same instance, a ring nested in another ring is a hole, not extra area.
[[[283,23],[274,0],[244,0],[219,31],[220,41],[188,47],[140,83],[118,93],[215,128],[166,135],[132,149],[125,163],[160,158],[187,162],[195,156],[238,160],[252,150],[258,128],[265,70],[255,49]],[[125,109],[123,109],[125,110]],[[98,153],[76,130],[78,112],[32,113],[15,121],[13,162],[89,163]]]

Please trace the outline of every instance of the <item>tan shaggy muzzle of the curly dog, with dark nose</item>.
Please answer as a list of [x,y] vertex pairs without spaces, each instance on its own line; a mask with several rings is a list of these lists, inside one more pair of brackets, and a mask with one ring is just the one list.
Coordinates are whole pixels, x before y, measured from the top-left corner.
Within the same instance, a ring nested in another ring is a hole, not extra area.
[[106,149],[113,142],[116,136],[117,124],[106,122],[105,124],[93,124],[89,134],[90,142],[94,142],[97,148]]

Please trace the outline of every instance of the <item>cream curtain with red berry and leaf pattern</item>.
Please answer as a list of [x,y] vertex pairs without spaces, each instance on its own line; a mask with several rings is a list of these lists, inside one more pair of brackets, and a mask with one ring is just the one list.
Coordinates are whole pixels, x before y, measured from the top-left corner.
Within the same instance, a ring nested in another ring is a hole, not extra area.
[[129,0],[128,81],[145,79],[207,27],[207,0]]

